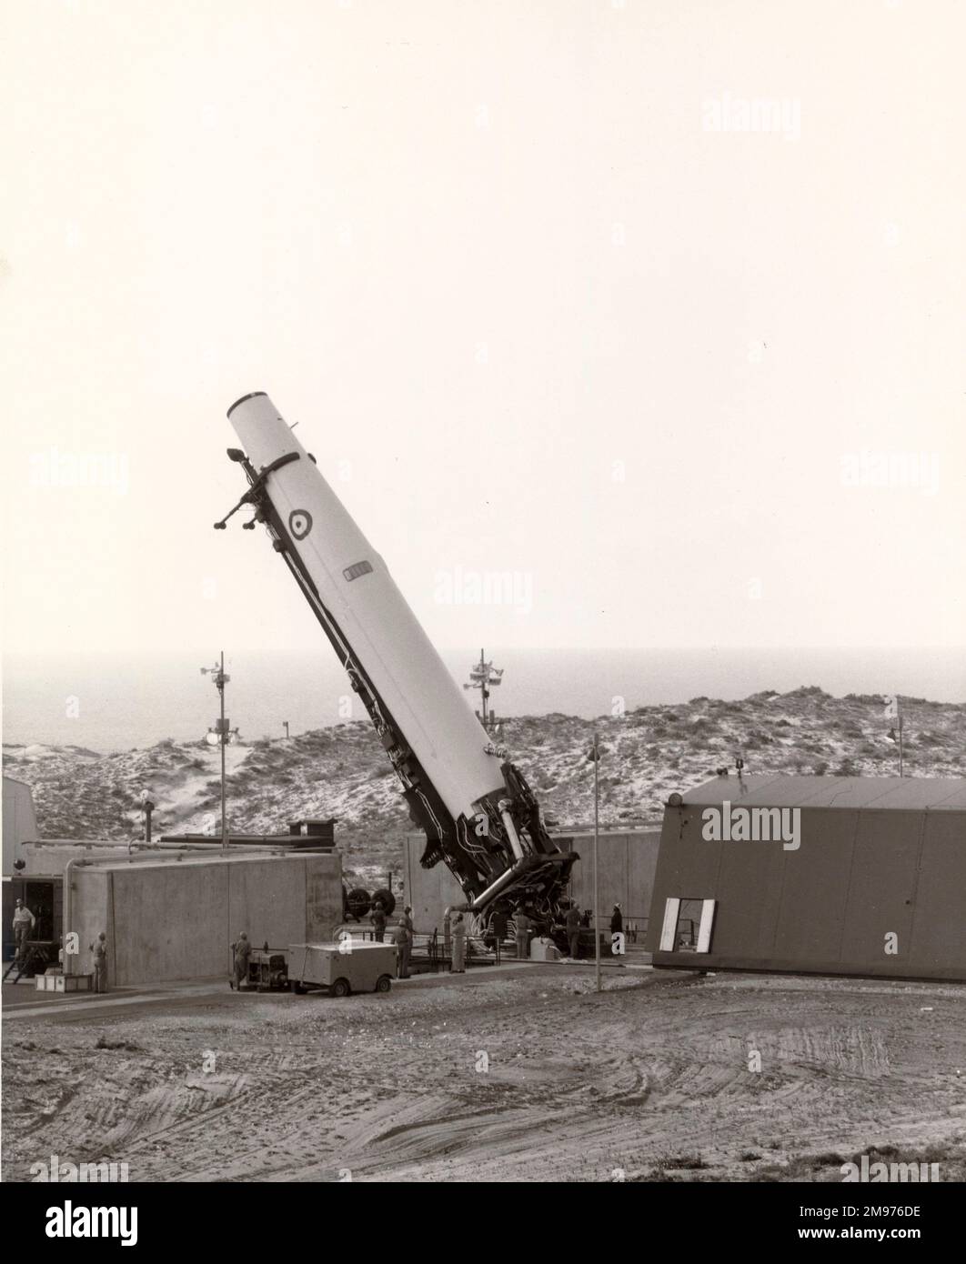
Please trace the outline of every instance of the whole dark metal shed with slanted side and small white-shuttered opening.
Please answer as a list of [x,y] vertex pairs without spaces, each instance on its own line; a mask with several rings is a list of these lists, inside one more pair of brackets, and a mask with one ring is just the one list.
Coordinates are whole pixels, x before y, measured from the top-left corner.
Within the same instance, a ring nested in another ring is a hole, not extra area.
[[966,780],[714,777],[671,796],[647,949],[675,968],[966,981]]

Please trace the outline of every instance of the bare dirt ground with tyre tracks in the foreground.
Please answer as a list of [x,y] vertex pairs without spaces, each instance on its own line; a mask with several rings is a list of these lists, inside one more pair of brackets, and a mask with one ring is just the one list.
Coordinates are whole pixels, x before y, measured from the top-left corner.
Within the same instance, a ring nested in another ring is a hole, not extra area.
[[[754,1053],[761,1059],[761,1071]],[[5,1181],[966,1178],[966,988],[518,968],[4,1024]]]

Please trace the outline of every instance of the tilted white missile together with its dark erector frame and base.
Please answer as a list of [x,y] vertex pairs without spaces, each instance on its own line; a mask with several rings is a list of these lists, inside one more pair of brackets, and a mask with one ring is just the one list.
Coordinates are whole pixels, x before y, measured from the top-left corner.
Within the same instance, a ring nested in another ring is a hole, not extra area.
[[243,506],[264,523],[349,675],[426,833],[422,865],[444,861],[483,921],[525,905],[540,921],[558,908],[577,854],[547,834],[522,772],[469,708],[416,616],[315,458],[264,392],[228,411],[249,482]]

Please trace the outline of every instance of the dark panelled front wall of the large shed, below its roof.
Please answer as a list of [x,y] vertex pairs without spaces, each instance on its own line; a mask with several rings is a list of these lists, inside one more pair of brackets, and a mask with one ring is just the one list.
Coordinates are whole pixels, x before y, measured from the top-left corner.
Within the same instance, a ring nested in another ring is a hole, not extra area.
[[[666,810],[656,966],[966,980],[966,811],[802,808],[798,851],[700,830],[698,809]],[[669,897],[717,901],[711,952],[660,951]]]

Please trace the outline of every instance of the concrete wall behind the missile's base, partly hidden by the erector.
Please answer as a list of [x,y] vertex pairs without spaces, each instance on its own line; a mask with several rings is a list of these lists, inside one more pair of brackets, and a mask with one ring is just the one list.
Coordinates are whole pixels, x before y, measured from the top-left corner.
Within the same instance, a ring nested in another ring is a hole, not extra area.
[[[580,909],[593,906],[593,834],[554,836],[565,847],[578,852],[580,860],[573,867],[570,899]],[[611,909],[620,904],[625,921],[636,920],[642,930],[651,905],[654,873],[657,865],[660,830],[627,829],[601,834],[598,852],[598,884],[601,914],[609,925]],[[431,933],[443,927],[446,905],[465,902],[463,890],[446,866],[440,862],[431,870],[420,865],[426,847],[422,834],[408,834],[405,843],[403,873],[406,904],[412,905],[412,916],[419,932]]]

